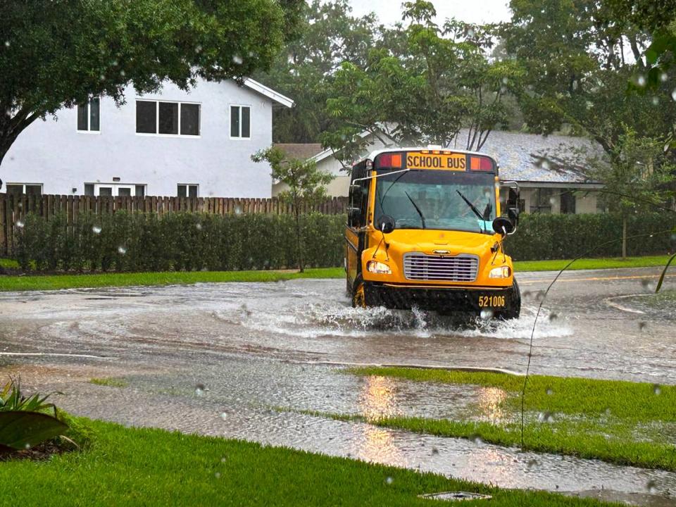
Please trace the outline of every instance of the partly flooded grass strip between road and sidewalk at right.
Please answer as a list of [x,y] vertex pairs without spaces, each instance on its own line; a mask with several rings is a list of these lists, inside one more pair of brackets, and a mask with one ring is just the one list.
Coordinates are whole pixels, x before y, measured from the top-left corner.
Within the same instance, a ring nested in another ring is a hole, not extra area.
[[[378,375],[414,382],[472,384],[506,393],[503,420],[491,421],[475,407],[463,420],[386,417],[368,420],[383,427],[505,446],[520,444],[523,377],[411,368],[357,368],[354,375]],[[524,448],[644,468],[676,470],[676,387],[637,382],[533,375],[525,396]],[[320,414],[343,420],[361,416]],[[539,417],[538,417],[539,416]],[[544,419],[544,420],[539,420]]]

